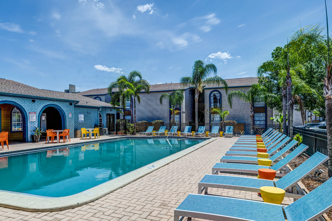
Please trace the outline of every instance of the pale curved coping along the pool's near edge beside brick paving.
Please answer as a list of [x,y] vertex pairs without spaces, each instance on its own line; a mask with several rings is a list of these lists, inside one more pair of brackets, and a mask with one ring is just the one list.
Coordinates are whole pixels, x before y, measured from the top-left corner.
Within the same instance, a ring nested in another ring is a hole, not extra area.
[[[143,167],[119,176],[116,179],[109,180],[95,187],[70,196],[50,198],[0,191],[0,206],[31,212],[61,211],[82,206],[90,202],[96,201],[104,197],[105,195],[114,192],[115,190],[118,190],[165,165],[170,164],[182,158],[183,156],[190,154],[193,151],[198,150],[199,148],[215,140],[216,138],[206,139],[202,143],[196,144],[185,150],[147,164]],[[154,167],[151,167],[152,165]]]

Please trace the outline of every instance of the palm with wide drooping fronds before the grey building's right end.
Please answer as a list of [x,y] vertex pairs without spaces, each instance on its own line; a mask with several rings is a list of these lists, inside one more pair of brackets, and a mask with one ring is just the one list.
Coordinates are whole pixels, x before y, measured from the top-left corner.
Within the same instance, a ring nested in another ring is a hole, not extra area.
[[278,96],[273,93],[267,93],[265,88],[263,88],[260,84],[254,83],[250,89],[243,91],[243,90],[231,90],[228,93],[228,104],[232,108],[232,100],[233,98],[239,98],[244,102],[250,103],[250,133],[254,134],[254,114],[255,114],[255,102],[258,101],[267,101],[272,99],[278,99]]

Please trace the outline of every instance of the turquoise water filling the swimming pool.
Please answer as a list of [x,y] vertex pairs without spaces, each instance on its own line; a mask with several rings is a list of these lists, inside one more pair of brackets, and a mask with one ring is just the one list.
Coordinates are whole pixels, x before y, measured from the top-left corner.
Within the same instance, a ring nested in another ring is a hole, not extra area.
[[126,139],[1,157],[0,190],[68,196],[201,142]]

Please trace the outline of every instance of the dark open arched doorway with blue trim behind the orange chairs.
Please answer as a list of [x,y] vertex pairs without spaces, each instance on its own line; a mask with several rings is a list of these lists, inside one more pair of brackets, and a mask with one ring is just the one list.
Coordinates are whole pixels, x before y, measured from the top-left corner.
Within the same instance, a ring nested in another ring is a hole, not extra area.
[[38,125],[44,132],[46,130],[64,130],[65,115],[62,108],[55,104],[44,106],[39,112]]

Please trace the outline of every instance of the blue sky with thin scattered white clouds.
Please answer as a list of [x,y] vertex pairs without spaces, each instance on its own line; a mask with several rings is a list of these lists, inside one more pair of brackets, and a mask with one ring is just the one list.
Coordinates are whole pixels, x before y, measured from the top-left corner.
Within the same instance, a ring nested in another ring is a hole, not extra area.
[[1,1],[0,77],[84,91],[132,70],[179,82],[199,59],[224,79],[254,77],[300,26],[325,26],[324,10],[323,0]]

